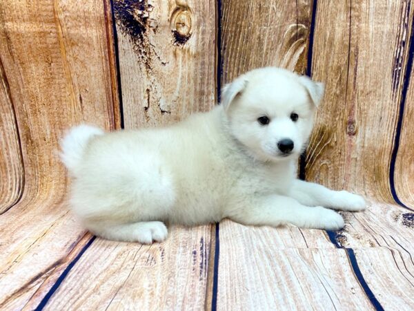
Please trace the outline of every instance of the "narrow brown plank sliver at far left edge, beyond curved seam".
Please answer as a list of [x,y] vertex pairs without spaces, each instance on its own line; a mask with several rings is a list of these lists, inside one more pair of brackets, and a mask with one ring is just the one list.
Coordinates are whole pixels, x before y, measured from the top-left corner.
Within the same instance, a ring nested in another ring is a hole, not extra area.
[[0,214],[21,197],[24,172],[10,87],[0,57]]

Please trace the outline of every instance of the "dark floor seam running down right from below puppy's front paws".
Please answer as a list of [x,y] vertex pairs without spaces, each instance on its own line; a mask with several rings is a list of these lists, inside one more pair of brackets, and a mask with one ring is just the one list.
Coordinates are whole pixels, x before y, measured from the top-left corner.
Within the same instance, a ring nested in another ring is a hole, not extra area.
[[383,311],[384,308],[382,308],[380,301],[377,300],[377,298],[375,297],[375,294],[373,293],[371,288],[369,288],[368,284],[366,283],[364,279],[364,275],[362,274],[361,270],[359,270],[359,265],[357,263],[357,258],[355,257],[355,253],[353,249],[349,247],[343,247],[342,245],[338,243],[337,232],[326,230],[326,233],[328,234],[329,240],[333,243],[333,245],[335,245],[336,248],[345,249],[346,254],[348,255],[349,261],[351,263],[352,270],[357,278],[358,283],[361,285],[362,290],[364,290],[367,298],[369,299],[369,301],[371,301],[371,304],[373,305],[375,310]]

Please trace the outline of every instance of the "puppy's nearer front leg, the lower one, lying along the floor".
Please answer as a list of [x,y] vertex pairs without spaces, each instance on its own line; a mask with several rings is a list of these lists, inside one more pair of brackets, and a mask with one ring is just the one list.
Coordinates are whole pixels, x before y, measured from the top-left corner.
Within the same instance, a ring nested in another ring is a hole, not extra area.
[[287,196],[264,196],[230,209],[227,217],[245,225],[277,227],[290,223],[302,228],[337,230],[344,219],[331,209],[307,207]]

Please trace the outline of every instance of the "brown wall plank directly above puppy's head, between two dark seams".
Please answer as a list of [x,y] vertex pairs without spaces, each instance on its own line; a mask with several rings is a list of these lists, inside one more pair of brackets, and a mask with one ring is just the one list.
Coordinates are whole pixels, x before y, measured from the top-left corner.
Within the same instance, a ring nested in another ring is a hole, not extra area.
[[312,1],[222,0],[222,84],[262,66],[305,73]]

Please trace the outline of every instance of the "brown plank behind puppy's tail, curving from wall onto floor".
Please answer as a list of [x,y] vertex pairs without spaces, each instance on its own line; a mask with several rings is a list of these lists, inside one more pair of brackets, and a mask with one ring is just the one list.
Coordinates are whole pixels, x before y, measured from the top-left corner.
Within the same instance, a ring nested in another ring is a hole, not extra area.
[[106,129],[117,123],[105,18],[102,1],[0,1],[1,62],[26,179],[21,200],[0,216],[2,310],[44,295],[37,289],[85,243],[63,204],[67,181],[57,142],[79,122]]

